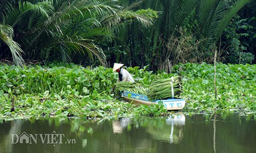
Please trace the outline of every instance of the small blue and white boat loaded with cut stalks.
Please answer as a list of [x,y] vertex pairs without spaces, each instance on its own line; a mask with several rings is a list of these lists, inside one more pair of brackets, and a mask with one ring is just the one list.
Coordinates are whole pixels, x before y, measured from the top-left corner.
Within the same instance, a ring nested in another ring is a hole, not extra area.
[[125,98],[130,103],[137,103],[137,104],[145,104],[145,105],[152,105],[158,104],[159,101],[163,102],[164,108],[167,110],[180,110],[185,107],[185,99],[177,99],[177,98],[168,98],[168,99],[158,99],[151,101],[147,98],[146,95],[137,94],[129,91],[123,91],[122,97]]

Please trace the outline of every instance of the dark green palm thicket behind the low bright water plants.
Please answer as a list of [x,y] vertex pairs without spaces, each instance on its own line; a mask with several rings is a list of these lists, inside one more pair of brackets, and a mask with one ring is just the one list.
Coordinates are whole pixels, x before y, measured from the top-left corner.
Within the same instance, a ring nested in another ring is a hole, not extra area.
[[[249,0],[0,2],[0,56],[16,65],[255,63]],[[248,13],[250,12],[250,13]]]

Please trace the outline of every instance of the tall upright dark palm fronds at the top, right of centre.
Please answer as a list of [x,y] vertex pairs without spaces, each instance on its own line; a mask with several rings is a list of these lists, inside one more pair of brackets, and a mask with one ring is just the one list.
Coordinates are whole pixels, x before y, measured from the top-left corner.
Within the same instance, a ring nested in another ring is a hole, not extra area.
[[[204,41],[204,49],[210,50],[211,44],[216,44],[220,39],[222,32],[231,20],[231,18],[245,5],[249,0],[148,0],[148,1],[135,1],[135,0],[122,0],[120,1],[123,6],[134,6],[133,9],[147,9],[151,8],[158,11],[158,18],[151,27],[149,33],[144,33],[142,39],[137,37],[137,42],[131,44],[140,44],[141,41],[147,42],[150,48],[140,48],[145,50],[145,56],[141,59],[155,59],[156,55],[163,55],[164,48],[161,46],[161,41],[167,41],[170,37],[179,38],[180,34],[177,29],[183,27],[187,29],[186,33],[194,35],[194,37]],[[138,28],[133,27],[129,33],[137,34]],[[132,36],[134,37],[134,36]],[[129,41],[133,39],[129,38]],[[126,45],[129,46],[130,42],[127,41]],[[148,42],[150,41],[150,42]],[[138,55],[136,55],[138,56]],[[164,59],[164,58],[163,58]],[[136,65],[136,64],[135,64]]]

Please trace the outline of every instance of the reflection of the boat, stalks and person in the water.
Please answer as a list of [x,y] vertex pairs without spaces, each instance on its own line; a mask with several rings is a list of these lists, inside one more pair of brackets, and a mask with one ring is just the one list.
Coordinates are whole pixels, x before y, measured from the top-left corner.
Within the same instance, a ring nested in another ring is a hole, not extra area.
[[119,118],[112,122],[114,134],[121,134],[123,130],[127,129],[127,127],[129,128],[131,124],[136,125],[136,128],[144,127],[145,131],[155,140],[179,143],[183,138],[185,115],[177,114],[158,119],[143,118],[143,121],[131,118]]

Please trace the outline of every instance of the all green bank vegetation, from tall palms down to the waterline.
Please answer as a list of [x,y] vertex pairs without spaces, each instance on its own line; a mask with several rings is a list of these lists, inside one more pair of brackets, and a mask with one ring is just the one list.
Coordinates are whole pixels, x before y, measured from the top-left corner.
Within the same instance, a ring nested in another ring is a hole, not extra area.
[[249,0],[2,0],[0,118],[172,113],[116,98],[115,62],[146,86],[182,77],[186,113],[255,114],[255,6]]

